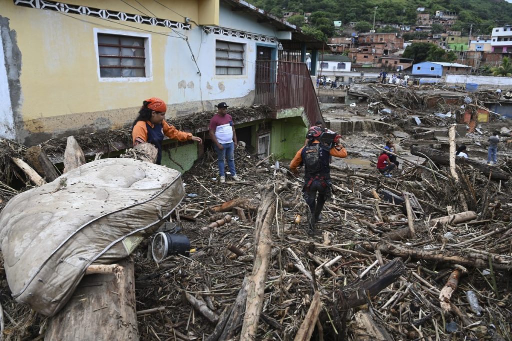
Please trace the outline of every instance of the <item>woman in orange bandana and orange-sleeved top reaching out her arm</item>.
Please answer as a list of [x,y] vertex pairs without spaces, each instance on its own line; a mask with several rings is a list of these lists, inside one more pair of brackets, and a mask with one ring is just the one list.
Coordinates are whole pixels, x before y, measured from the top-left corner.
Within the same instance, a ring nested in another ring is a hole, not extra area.
[[149,142],[158,150],[156,164],[160,165],[162,161],[162,141],[164,135],[169,139],[184,141],[197,141],[199,144],[203,140],[197,136],[193,136],[189,132],[180,131],[175,126],[165,121],[165,112],[167,105],[164,101],[157,97],[142,102],[139,110],[139,116],[133,122],[132,140],[134,147],[139,143]]

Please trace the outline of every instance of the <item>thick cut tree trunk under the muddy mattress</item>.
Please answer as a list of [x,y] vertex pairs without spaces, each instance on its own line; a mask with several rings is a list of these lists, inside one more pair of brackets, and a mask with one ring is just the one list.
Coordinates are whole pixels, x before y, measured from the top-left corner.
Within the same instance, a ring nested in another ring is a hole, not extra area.
[[69,302],[48,321],[46,340],[138,340],[133,261],[115,274],[84,276]]

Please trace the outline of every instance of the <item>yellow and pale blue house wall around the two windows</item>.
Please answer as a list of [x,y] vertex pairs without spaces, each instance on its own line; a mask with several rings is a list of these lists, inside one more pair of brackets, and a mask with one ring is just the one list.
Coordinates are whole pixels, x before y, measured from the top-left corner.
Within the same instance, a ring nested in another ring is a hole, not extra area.
[[[215,23],[215,16],[219,15],[219,20],[232,29],[275,36],[268,24],[225,6],[216,14],[211,9],[218,8],[218,2],[181,0],[173,2],[173,9],[196,22]],[[142,4],[159,17],[184,20],[156,2],[144,0]],[[83,0],[80,5],[103,9],[108,6],[140,14],[123,2]],[[52,137],[127,126],[137,116],[142,101],[153,96],[168,103],[167,117],[211,110],[221,101],[230,105],[253,102],[255,40],[206,34],[196,25],[179,31],[86,15],[63,15],[15,6],[10,0],[0,0],[0,8],[5,55],[2,64],[6,65],[6,71],[0,69],[0,94],[9,89],[11,100],[11,109],[7,101],[2,100],[0,105],[0,124],[5,126],[0,129],[2,137],[13,138],[10,132],[15,128],[16,140],[33,145]],[[212,13],[201,12],[200,8],[209,8]],[[101,79],[95,40],[98,32],[146,38],[147,77]],[[199,69],[181,37],[188,39]],[[246,44],[243,75],[215,74],[216,39]]]

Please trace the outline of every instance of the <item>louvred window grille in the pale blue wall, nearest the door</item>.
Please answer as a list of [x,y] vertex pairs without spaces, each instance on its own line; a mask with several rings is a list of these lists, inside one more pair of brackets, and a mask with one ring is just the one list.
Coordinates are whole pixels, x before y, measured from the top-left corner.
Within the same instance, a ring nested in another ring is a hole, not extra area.
[[244,44],[217,40],[215,44],[215,74],[242,75],[244,51]]

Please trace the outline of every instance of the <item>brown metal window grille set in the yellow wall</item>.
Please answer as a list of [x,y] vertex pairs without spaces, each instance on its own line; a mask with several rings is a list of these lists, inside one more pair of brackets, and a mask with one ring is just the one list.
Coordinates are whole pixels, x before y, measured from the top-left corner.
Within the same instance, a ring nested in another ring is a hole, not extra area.
[[144,39],[98,33],[100,76],[146,77]]

